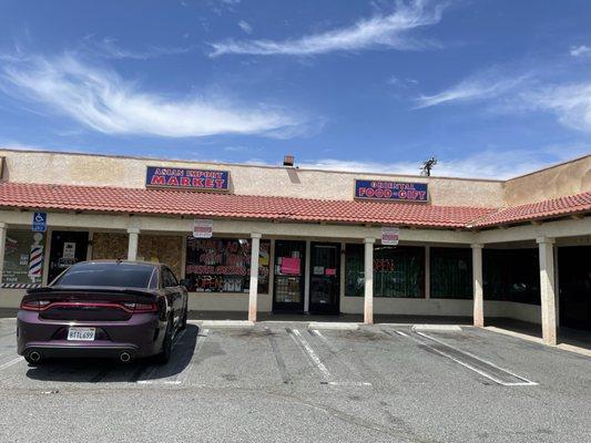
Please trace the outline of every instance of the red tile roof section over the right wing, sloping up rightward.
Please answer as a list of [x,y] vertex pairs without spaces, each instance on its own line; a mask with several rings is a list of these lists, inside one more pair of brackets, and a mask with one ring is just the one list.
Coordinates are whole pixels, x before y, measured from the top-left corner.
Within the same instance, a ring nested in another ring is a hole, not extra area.
[[560,217],[591,210],[591,192],[499,209],[471,225],[486,227]]

